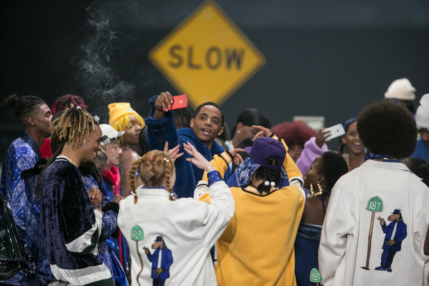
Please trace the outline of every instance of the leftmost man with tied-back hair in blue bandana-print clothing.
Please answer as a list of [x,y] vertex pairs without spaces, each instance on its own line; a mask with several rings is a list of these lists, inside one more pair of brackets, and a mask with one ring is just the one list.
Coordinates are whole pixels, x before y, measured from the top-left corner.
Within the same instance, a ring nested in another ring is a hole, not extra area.
[[49,269],[47,254],[42,241],[39,202],[34,195],[36,177],[21,180],[21,172],[33,168],[42,157],[39,148],[51,135],[51,109],[36,96],[18,97],[15,94],[4,99],[2,105],[13,108],[15,119],[24,126],[24,133],[12,142],[6,152],[1,173],[0,193],[7,198],[21,245],[33,261],[28,261],[36,271],[25,275],[21,272],[8,284],[24,285],[29,281],[49,283],[54,280]]

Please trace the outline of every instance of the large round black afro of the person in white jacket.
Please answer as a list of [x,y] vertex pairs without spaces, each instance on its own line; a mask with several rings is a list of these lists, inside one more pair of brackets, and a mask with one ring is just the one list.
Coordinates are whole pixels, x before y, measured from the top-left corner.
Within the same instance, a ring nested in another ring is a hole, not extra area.
[[410,156],[417,145],[416,120],[401,105],[382,101],[368,105],[357,117],[357,133],[371,153]]

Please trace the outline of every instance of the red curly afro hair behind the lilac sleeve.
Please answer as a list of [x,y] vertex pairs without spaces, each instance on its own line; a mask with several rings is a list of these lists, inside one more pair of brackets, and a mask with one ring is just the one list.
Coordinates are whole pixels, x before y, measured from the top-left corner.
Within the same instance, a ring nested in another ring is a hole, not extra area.
[[283,139],[287,146],[299,145],[304,147],[311,137],[316,136],[313,129],[300,121],[287,122],[284,121],[271,128],[271,131],[278,138]]

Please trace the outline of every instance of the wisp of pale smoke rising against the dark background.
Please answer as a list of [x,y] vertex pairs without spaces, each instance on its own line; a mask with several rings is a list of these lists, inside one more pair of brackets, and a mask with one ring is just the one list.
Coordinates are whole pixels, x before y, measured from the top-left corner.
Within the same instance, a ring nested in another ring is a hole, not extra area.
[[79,54],[72,58],[72,64],[78,66],[77,81],[82,85],[85,96],[96,99],[97,111],[103,121],[106,121],[107,104],[118,101],[130,101],[133,98],[135,86],[122,81],[115,74],[112,65],[114,53],[112,42],[120,32],[112,30],[115,11],[120,4],[103,4],[94,2],[86,8],[88,22],[86,39],[79,48]]

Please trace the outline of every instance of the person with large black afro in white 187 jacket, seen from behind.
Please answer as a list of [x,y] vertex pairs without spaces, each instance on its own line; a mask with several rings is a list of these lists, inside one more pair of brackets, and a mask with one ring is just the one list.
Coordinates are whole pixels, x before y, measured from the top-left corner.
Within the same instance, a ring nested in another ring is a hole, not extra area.
[[416,146],[416,122],[402,106],[378,102],[359,115],[357,132],[370,153],[332,188],[320,235],[322,283],[422,286],[429,189],[401,163]]

